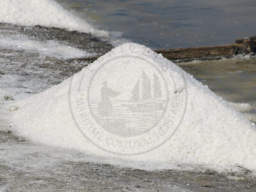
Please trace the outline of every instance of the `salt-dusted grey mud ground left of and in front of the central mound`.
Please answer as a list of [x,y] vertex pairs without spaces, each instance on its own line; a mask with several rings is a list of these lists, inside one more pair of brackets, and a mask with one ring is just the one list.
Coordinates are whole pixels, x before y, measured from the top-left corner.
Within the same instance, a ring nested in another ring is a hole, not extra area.
[[[26,33],[40,41],[65,40],[74,47],[100,54],[111,49],[108,42],[72,31],[5,24],[0,28],[6,33]],[[9,104],[10,98],[28,97],[61,83],[89,64],[6,47],[0,47],[0,52],[4,53],[0,61],[3,106]],[[255,176],[243,168],[239,173],[202,169],[149,172],[86,161],[86,154],[81,152],[44,146],[20,137],[4,115],[0,116],[0,191],[256,191]]]

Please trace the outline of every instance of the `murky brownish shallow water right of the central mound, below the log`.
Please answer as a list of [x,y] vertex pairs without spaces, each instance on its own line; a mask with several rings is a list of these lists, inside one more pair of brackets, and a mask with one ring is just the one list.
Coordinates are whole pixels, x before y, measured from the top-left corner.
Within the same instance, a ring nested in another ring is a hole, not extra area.
[[195,61],[179,65],[256,123],[256,58]]

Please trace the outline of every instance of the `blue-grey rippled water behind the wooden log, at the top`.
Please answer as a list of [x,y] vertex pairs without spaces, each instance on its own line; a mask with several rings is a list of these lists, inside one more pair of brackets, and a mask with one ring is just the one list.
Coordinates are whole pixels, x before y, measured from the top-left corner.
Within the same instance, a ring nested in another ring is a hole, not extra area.
[[256,35],[253,0],[57,0],[109,31],[152,48],[233,43]]

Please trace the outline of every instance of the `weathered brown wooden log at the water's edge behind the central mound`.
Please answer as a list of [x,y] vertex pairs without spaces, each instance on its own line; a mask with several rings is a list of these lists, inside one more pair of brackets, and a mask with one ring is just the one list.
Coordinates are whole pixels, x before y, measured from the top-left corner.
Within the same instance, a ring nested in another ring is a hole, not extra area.
[[[234,44],[214,46],[214,47],[190,47],[179,49],[161,49],[155,50],[163,54],[165,58],[176,63],[188,62],[193,60],[220,60],[221,58],[232,58],[237,54],[255,54],[256,53],[256,36],[250,38],[236,39]],[[99,56],[91,58],[77,58],[92,62]]]

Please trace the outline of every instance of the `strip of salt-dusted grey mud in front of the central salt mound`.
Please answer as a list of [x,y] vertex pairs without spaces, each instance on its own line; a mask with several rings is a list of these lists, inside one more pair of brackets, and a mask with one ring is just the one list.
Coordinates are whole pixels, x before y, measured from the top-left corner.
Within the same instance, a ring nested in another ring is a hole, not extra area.
[[37,145],[8,129],[0,143],[2,155],[8,150],[0,159],[0,191],[256,191],[248,170],[148,172],[90,163],[79,160],[84,154]]

